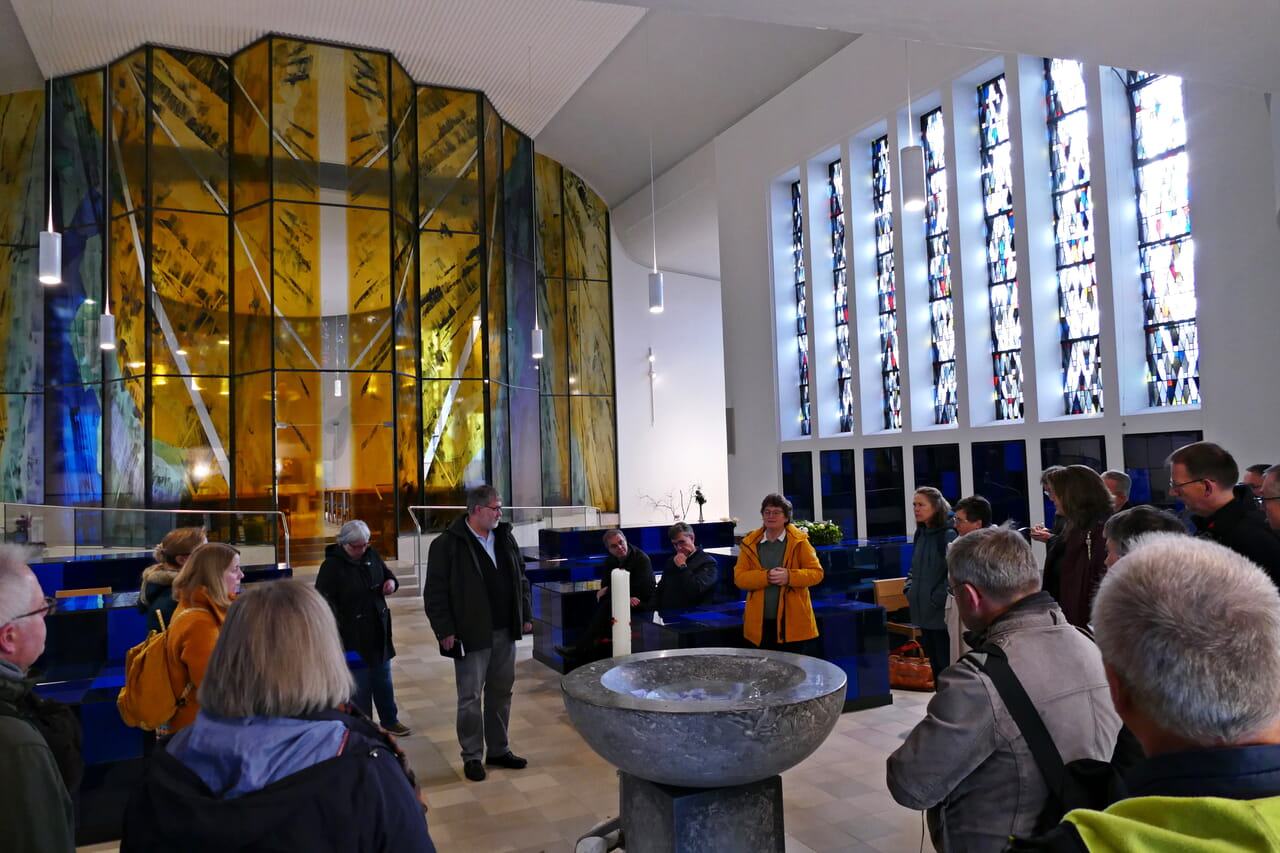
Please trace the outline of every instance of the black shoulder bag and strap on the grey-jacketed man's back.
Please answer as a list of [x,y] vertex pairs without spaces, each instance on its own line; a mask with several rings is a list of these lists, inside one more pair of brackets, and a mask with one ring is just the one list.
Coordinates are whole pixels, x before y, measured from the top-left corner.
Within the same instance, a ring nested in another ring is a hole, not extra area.
[[[996,692],[1005,702],[1014,724],[1027,740],[1027,747],[1036,758],[1036,765],[1048,785],[1048,800],[1036,821],[1036,835],[1042,835],[1061,822],[1062,817],[1075,808],[1105,809],[1124,799],[1121,768],[1132,761],[1130,740],[1133,734],[1121,727],[1116,738],[1115,753],[1110,762],[1094,758],[1062,761],[1062,754],[1053,744],[1053,736],[1044,726],[1044,720],[1032,703],[1027,690],[1018,680],[1005,651],[995,644],[987,644],[975,652],[987,656],[978,669],[987,674]],[[973,660],[973,658],[970,658]],[[974,661],[977,663],[977,661]],[[1138,748],[1140,753],[1140,747]]]

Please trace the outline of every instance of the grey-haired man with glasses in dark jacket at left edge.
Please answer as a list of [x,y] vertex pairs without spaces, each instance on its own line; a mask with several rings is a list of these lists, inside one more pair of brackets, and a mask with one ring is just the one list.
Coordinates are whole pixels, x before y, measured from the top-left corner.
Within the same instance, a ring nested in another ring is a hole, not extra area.
[[0,850],[64,853],[76,849],[76,813],[63,774],[35,717],[27,670],[45,651],[45,598],[26,556],[0,546]]

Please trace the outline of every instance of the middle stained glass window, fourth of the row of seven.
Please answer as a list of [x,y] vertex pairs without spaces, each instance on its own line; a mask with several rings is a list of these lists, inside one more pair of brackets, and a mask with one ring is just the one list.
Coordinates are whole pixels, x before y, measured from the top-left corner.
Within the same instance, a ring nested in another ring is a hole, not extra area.
[[951,243],[947,231],[946,123],[942,108],[920,117],[924,140],[924,236],[929,261],[929,319],[933,337],[933,423],[954,424],[956,324],[951,301]]

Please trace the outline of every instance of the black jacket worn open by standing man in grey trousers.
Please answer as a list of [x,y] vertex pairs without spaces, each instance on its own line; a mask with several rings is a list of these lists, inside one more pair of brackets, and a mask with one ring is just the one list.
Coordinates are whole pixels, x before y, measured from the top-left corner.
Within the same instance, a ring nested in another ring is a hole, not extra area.
[[489,615],[489,590],[471,547],[475,534],[467,526],[466,516],[445,528],[426,552],[422,606],[431,621],[431,630],[438,639],[457,637],[467,651],[492,648],[495,628],[506,628],[512,639],[520,639],[524,622],[532,621],[534,617],[525,560],[511,533],[511,525],[503,521],[493,534],[498,569],[511,571],[512,607],[506,625],[494,625]]

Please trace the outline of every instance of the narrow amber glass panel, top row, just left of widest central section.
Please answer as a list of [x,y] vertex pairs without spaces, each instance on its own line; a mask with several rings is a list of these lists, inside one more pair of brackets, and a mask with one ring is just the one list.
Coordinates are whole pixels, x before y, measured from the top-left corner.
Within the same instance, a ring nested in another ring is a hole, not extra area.
[[232,59],[232,140],[236,149],[237,210],[270,196],[270,40],[246,47]]

